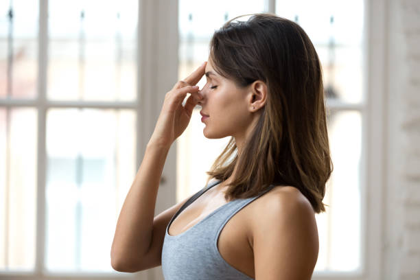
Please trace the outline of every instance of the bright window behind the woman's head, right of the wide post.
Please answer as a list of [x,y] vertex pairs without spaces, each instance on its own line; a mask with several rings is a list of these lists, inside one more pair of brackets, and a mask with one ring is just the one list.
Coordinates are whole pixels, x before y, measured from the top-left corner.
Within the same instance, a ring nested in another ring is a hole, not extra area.
[[[372,247],[366,241],[369,237],[366,220],[373,218],[371,213],[366,212],[366,193],[370,191],[368,187],[373,187],[368,186],[368,182],[374,180],[368,177],[368,170],[375,167],[368,166],[368,159],[375,161],[377,158],[373,150],[368,150],[373,130],[368,130],[367,126],[369,117],[380,113],[380,106],[375,104],[376,108],[369,103],[374,96],[377,98],[377,93],[368,91],[370,81],[366,80],[369,76],[365,63],[369,51],[366,43],[366,3],[363,0],[229,3],[231,5],[227,6],[200,3],[197,7],[195,1],[180,0],[179,78],[185,78],[207,60],[213,30],[233,16],[270,11],[303,27],[323,65],[334,163],[324,200],[329,207],[326,207],[326,213],[316,215],[320,251],[314,277],[339,279],[340,275],[356,278],[369,275],[372,268],[366,267],[369,264],[366,252]],[[212,10],[212,7],[217,8]],[[202,13],[204,10],[205,14]],[[369,60],[369,63],[375,67],[377,62]],[[177,166],[182,168],[177,170],[177,201],[204,187],[207,179],[205,172],[229,141],[229,137],[206,139],[202,135],[204,125],[200,123],[199,111],[200,106],[197,106],[187,130],[178,139]],[[370,234],[373,231],[377,233],[378,230],[371,229]]]

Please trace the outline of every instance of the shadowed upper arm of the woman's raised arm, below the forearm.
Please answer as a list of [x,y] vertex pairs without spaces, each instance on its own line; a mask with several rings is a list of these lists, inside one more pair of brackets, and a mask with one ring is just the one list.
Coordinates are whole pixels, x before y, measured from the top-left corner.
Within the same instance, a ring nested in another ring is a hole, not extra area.
[[[193,195],[191,195],[193,196]],[[162,259],[162,248],[163,240],[165,238],[165,230],[167,224],[169,224],[172,216],[175,215],[176,211],[184,205],[191,196],[188,196],[184,200],[178,202],[176,205],[166,209],[159,215],[156,215],[153,219],[153,230],[152,230],[152,243],[150,244],[148,252],[145,254],[141,261],[141,268],[139,270],[146,270],[161,265]]]

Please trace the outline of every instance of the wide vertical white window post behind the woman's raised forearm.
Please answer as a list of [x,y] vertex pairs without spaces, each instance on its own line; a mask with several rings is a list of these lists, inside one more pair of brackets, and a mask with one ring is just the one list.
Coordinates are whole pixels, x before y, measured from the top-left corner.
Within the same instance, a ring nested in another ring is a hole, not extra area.
[[[178,1],[139,1],[138,23],[137,170],[161,112],[165,93],[178,80]],[[176,145],[167,154],[155,213],[176,203]],[[147,271],[161,279],[161,268]]]

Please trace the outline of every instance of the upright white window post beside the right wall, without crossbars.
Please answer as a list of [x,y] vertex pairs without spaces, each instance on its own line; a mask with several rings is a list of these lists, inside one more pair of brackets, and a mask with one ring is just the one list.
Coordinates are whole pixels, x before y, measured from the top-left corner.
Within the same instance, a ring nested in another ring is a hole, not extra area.
[[[366,279],[383,279],[383,227],[385,218],[384,171],[386,166],[386,36],[388,30],[387,1],[366,0],[365,91],[366,91],[366,194],[364,194],[364,252],[362,264]],[[385,69],[385,70],[384,70]]]

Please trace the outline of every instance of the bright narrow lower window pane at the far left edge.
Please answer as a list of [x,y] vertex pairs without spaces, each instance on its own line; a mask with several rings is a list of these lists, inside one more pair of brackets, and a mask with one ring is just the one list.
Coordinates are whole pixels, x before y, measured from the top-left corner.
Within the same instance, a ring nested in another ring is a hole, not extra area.
[[0,270],[35,264],[37,113],[0,108]]

